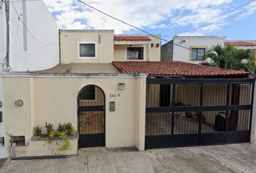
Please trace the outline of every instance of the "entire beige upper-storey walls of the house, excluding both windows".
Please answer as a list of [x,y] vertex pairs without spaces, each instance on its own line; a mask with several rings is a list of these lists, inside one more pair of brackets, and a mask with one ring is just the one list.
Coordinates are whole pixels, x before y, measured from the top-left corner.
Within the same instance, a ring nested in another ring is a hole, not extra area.
[[[143,61],[160,61],[161,40],[148,37],[150,41],[114,41],[114,30],[60,30],[61,63],[127,61],[127,47],[143,47]],[[79,43],[95,43],[95,57],[80,58]]]

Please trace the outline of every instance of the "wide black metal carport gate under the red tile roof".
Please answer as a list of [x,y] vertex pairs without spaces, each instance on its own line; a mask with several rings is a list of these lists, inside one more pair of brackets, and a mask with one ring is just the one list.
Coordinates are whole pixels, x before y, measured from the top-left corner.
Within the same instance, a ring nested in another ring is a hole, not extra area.
[[255,79],[148,78],[145,148],[247,143]]

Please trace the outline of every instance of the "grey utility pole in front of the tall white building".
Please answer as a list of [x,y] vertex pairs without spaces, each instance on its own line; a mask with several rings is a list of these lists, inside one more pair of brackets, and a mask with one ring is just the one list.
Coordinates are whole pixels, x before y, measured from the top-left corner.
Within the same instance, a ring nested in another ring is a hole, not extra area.
[[7,66],[6,68],[9,68],[9,16],[10,16],[10,1],[9,0],[5,0],[5,14],[6,14],[6,18],[7,18],[7,55],[4,59],[4,61],[6,62]]

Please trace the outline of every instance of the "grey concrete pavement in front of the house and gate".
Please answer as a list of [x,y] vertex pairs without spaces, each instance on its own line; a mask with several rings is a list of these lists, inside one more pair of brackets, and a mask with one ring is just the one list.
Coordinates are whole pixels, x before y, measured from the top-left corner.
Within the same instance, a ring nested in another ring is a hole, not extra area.
[[1,173],[15,172],[255,172],[256,145],[233,144],[135,151],[134,148],[83,148],[67,159],[7,161]]

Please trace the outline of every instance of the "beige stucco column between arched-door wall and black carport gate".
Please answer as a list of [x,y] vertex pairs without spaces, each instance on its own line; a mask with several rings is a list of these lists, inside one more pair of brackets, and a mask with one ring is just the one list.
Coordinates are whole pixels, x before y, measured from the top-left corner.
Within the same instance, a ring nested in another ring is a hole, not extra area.
[[137,148],[140,151],[145,150],[145,105],[146,105],[146,76],[140,76],[137,79],[136,87],[136,131],[137,131]]

